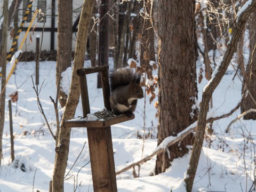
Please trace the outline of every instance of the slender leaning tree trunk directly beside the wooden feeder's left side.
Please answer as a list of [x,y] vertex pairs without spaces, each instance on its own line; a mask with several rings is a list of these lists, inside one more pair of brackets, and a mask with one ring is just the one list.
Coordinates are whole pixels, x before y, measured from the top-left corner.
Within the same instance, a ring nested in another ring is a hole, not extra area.
[[[74,56],[74,65],[71,76],[70,91],[66,103],[66,108],[62,116],[62,122],[71,119],[75,115],[76,107],[79,101],[80,89],[79,79],[76,75],[76,70],[84,67],[84,58],[86,51],[86,43],[89,32],[90,19],[94,6],[94,0],[84,0],[81,17],[78,26],[76,51]],[[55,164],[52,178],[52,191],[64,191],[64,175],[67,167],[69,142],[71,128],[63,126],[61,123],[59,142],[56,147]]]

